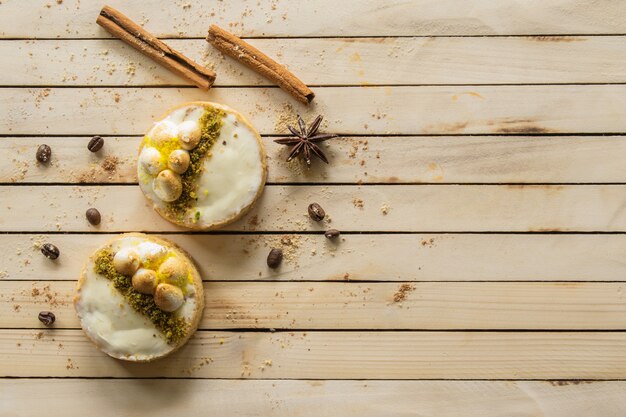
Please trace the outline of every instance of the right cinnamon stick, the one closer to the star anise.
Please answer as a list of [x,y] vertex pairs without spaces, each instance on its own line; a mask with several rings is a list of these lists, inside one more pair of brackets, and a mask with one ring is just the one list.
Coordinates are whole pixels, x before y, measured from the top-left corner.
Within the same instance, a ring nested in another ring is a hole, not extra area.
[[226,55],[235,58],[264,77],[274,81],[280,88],[299,101],[308,104],[315,97],[315,93],[289,72],[287,68],[219,26],[211,25],[207,42]]

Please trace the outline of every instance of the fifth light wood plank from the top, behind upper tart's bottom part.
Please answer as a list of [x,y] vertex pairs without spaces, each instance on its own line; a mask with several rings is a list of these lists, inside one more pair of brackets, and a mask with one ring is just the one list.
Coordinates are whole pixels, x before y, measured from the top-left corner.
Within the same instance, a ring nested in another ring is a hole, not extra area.
[[[317,202],[329,218],[314,222]],[[94,228],[85,211],[97,207]],[[28,216],[33,207],[45,207]],[[545,232],[626,231],[624,185],[269,185],[230,231]],[[3,186],[0,230],[181,231],[153,211],[135,186]],[[319,239],[324,239],[319,236]]]

